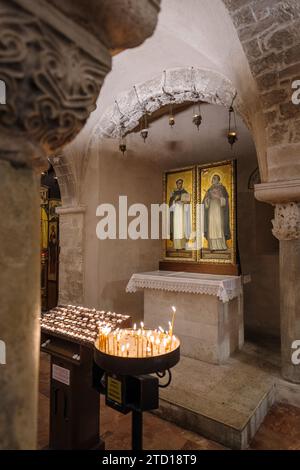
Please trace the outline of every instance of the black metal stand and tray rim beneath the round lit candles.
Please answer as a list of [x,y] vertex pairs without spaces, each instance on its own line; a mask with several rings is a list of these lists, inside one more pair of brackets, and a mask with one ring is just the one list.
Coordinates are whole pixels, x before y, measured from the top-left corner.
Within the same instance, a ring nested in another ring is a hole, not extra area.
[[[142,450],[143,412],[159,407],[159,388],[170,384],[170,369],[179,360],[179,345],[166,354],[141,358],[113,356],[95,347],[94,387],[105,395],[107,406],[123,414],[132,412],[132,450]],[[167,374],[167,382],[160,384]]]

